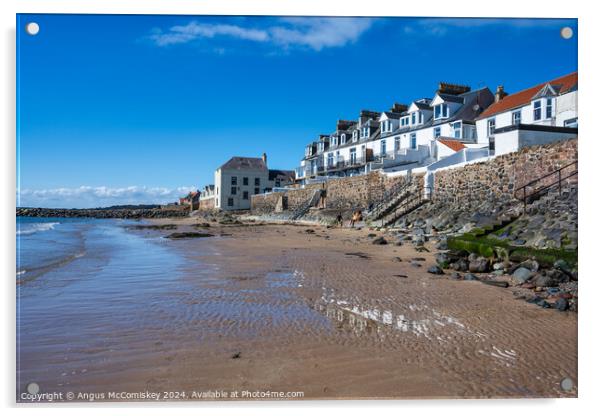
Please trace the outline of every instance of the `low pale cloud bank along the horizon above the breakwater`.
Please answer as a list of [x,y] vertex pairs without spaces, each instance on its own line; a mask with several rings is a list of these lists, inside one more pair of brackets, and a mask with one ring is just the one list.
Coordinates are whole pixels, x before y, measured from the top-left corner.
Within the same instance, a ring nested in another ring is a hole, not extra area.
[[193,186],[178,188],[148,188],[128,186],[80,186],[77,188],[22,189],[17,192],[17,204],[22,207],[96,208],[111,205],[166,204],[195,190]]

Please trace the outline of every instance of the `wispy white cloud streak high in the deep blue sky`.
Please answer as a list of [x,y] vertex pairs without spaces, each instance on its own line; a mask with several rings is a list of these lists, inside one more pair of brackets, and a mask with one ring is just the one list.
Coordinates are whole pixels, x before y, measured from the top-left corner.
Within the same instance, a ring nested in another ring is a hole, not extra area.
[[[341,47],[357,41],[373,24],[369,18],[347,17],[289,17],[279,24],[263,29],[231,24],[209,24],[192,21],[173,26],[167,31],[155,30],[149,38],[158,46],[184,44],[200,39],[229,37],[284,47],[324,48]],[[223,51],[223,48],[217,50]]]

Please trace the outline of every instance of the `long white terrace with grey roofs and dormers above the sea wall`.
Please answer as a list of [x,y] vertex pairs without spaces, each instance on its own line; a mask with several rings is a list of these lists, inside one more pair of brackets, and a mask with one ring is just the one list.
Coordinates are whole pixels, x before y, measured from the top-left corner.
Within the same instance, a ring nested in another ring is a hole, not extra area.
[[475,119],[494,101],[488,88],[440,83],[435,96],[390,111],[362,110],[357,122],[340,120],[336,131],[306,146],[296,170],[300,182],[352,176],[371,170],[427,166],[466,147],[483,147]]

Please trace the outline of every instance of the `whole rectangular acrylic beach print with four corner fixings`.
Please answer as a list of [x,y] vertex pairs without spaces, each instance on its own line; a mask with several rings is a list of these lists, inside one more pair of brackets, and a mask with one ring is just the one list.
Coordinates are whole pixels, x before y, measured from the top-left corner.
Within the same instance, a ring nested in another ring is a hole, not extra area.
[[19,15],[17,400],[577,395],[577,21]]

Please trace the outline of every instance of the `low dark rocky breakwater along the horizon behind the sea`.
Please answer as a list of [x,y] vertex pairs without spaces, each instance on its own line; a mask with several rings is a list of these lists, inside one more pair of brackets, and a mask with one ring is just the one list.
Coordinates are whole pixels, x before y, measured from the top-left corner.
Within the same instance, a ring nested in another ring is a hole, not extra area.
[[53,217],[53,218],[175,218],[187,217],[187,207],[162,208],[153,207],[109,207],[95,209],[63,209],[63,208],[17,208],[18,217]]

